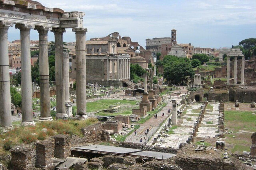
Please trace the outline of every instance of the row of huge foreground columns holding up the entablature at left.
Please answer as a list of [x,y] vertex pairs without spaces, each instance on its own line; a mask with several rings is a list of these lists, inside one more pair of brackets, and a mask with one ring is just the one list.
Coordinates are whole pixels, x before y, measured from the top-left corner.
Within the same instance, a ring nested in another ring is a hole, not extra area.
[[[0,22],[0,123],[2,128],[12,127],[11,96],[8,57],[8,29],[13,24]],[[22,123],[21,125],[34,125],[32,109],[31,86],[31,60],[30,60],[30,30],[35,29],[39,33],[39,72],[40,72],[40,121],[51,121],[50,116],[50,86],[48,64],[48,31],[50,28],[43,26],[29,26],[16,24],[20,30],[21,40],[21,96],[22,96]],[[76,60],[77,60],[77,114],[79,119],[86,116],[86,59],[85,59],[85,35],[86,28],[73,28],[76,34]],[[69,67],[68,56],[63,52],[63,28],[54,28],[55,36],[55,79],[56,79],[56,117],[65,118],[65,103],[69,100]]]

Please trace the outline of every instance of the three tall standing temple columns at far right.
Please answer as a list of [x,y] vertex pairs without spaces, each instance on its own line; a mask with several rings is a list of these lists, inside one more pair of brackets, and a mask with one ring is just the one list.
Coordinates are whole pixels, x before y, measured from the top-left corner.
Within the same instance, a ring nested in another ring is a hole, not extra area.
[[[241,68],[241,84],[244,84],[244,56],[242,56],[242,68]],[[230,79],[230,56],[227,56],[227,84]],[[234,84],[237,84],[237,56],[234,61]]]

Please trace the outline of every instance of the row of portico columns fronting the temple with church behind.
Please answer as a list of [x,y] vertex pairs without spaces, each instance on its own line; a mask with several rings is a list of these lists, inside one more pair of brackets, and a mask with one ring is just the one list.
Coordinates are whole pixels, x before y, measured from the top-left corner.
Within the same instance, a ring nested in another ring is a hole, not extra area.
[[[112,68],[110,68],[110,63],[112,63]],[[117,74],[115,74],[115,63]],[[110,69],[112,69],[111,80],[130,79],[130,59],[107,59],[107,80],[110,80]]]

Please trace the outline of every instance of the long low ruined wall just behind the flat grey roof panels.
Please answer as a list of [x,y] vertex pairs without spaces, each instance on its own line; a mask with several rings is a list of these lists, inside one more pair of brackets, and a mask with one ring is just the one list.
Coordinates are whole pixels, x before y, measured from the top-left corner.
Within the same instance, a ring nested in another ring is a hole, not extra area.
[[116,142],[115,145],[119,147],[141,149],[141,150],[163,152],[163,153],[177,153],[177,151],[179,150],[175,148],[147,146],[147,145],[141,145],[139,143],[131,143],[131,142]]

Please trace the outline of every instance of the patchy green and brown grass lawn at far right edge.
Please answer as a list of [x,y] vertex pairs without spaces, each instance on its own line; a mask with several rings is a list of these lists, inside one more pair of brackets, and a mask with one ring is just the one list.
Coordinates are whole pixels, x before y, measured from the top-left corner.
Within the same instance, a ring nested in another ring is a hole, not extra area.
[[[256,115],[246,111],[225,111],[225,125],[233,131],[225,134],[226,148],[232,153],[249,152],[251,135],[256,131]],[[242,130],[245,132],[241,133]]]

